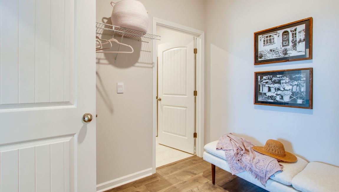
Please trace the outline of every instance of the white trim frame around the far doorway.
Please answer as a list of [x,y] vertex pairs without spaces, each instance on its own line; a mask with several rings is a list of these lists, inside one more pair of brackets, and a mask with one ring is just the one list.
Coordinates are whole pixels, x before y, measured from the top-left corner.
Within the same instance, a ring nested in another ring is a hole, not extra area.
[[[196,97],[196,133],[195,152],[202,157],[204,152],[204,32],[186,27],[181,24],[153,17],[153,34],[157,34],[157,25],[190,34],[197,38],[197,71],[196,85],[198,95]],[[153,40],[153,94],[152,94],[152,173],[156,172],[156,134],[157,134],[157,52],[156,40]],[[193,51],[193,50],[192,50]],[[193,93],[192,93],[193,94]]]

